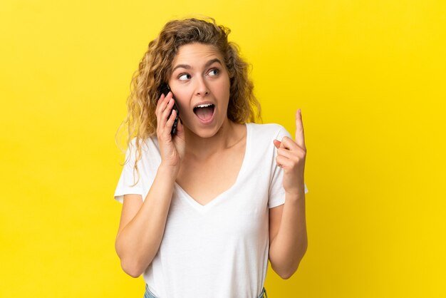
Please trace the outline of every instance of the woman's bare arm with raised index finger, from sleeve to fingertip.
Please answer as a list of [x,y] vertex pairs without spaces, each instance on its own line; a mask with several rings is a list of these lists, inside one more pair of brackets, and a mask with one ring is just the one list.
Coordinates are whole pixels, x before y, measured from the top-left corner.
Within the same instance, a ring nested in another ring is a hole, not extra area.
[[296,141],[274,140],[276,163],[284,169],[285,203],[269,210],[269,260],[282,278],[296,272],[308,245],[305,219],[306,145],[301,110],[296,112]]

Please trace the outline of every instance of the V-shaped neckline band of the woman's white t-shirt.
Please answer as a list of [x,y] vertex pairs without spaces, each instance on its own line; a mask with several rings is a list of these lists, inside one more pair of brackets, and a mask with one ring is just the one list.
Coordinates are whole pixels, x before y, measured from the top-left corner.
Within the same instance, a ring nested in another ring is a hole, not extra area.
[[242,165],[240,166],[240,170],[234,184],[232,184],[227,190],[220,192],[216,197],[207,202],[206,205],[201,205],[191,195],[189,195],[178,183],[175,182],[175,189],[177,190],[177,192],[179,193],[180,197],[183,200],[190,203],[192,207],[199,210],[200,212],[204,212],[206,210],[209,210],[209,208],[211,208],[213,205],[217,204],[219,200],[222,200],[223,197],[225,197],[229,192],[231,192],[234,189],[234,187],[237,186],[239,181],[242,180],[244,172],[246,171],[246,168],[249,164],[249,152],[251,152],[251,132],[249,131],[250,130],[249,125],[250,123],[245,123],[245,126],[247,128],[247,143],[245,145]]

